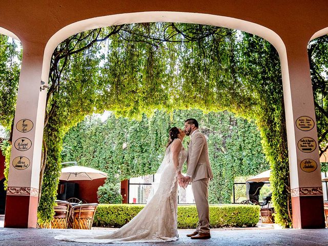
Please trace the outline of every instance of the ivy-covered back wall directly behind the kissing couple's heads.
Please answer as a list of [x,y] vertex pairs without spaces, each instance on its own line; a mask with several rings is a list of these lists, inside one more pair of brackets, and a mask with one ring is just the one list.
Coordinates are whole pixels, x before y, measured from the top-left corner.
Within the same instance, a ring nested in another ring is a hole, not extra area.
[[[101,122],[88,116],[70,129],[63,140],[63,161],[93,167],[108,173],[109,182],[152,174],[157,171],[171,127],[183,127],[185,119],[196,117],[209,142],[214,173],[210,183],[211,203],[230,203],[234,178],[255,175],[269,169],[254,122],[227,111],[204,114],[200,110],[156,111],[141,120],[116,118]],[[185,138],[185,146],[189,137]],[[185,166],[186,169],[186,166]],[[118,177],[118,178],[117,178]]]

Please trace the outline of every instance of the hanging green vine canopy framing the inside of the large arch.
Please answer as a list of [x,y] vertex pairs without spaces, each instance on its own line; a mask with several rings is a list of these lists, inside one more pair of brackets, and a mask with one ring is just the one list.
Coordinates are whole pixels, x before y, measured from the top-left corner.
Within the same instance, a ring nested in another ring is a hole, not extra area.
[[276,180],[276,220],[291,224],[280,63],[265,40],[192,24],[92,30],[57,47],[49,84],[39,218],[50,219],[64,133],[85,115],[110,110],[140,120],[155,109],[196,108],[255,118]]

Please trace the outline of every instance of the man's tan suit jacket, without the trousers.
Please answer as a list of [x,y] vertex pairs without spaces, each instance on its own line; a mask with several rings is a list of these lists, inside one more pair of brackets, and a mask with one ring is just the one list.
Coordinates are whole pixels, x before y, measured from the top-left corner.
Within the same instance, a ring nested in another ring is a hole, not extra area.
[[187,159],[187,175],[190,181],[213,178],[206,137],[198,130],[192,134]]

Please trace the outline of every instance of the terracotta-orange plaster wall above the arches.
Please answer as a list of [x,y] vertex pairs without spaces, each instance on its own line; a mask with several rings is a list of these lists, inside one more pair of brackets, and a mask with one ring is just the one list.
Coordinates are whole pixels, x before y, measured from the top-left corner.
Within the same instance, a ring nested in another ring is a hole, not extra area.
[[311,0],[3,0],[0,27],[15,33],[23,44],[45,44],[58,30],[81,20],[125,13],[185,12],[256,23],[273,30],[283,40],[293,36],[310,40],[314,33],[327,27],[326,4],[326,0],[317,0],[315,4]]

